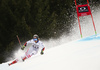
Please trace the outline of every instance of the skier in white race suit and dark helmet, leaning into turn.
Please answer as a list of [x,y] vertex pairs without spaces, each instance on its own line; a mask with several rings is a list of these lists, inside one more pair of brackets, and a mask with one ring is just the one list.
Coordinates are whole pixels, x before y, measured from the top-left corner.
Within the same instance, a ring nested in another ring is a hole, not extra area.
[[[21,49],[24,50],[24,48],[25,48],[28,44],[30,44],[30,43],[32,44],[32,46],[25,52],[24,56],[21,57],[21,59],[22,59],[23,61],[24,61],[25,59],[31,57],[32,55],[37,54],[37,53],[38,53],[38,50],[39,50],[39,47],[42,48],[40,54],[41,54],[41,55],[44,54],[44,49],[45,49],[45,47],[44,47],[43,43],[40,41],[39,36],[38,36],[37,34],[33,35],[33,39],[27,41],[27,42],[23,45],[23,47],[21,47]],[[19,61],[19,60],[16,59],[16,60],[14,60],[12,63],[10,63],[10,64],[8,64],[8,65],[10,66],[10,65],[12,65],[12,64],[17,63],[18,61]]]

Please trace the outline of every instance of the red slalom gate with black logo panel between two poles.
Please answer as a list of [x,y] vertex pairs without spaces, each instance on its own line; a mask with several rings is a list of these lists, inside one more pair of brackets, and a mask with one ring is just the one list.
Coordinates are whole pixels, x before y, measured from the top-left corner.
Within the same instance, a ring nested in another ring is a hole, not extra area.
[[91,9],[90,9],[90,6],[89,6],[89,1],[87,0],[87,4],[85,4],[85,5],[77,5],[76,0],[75,0],[75,5],[76,5],[77,18],[78,18],[78,24],[79,24],[81,38],[82,38],[82,31],[81,31],[81,25],[80,25],[80,20],[79,20],[79,17],[81,17],[81,16],[91,15],[95,34],[97,35],[93,16],[92,16]]

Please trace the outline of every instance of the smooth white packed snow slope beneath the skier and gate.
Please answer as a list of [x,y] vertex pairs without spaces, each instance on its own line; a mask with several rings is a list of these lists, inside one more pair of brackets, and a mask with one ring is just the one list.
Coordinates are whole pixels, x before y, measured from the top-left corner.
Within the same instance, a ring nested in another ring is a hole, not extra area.
[[100,34],[47,49],[24,62],[8,63],[0,64],[0,70],[100,70]]

